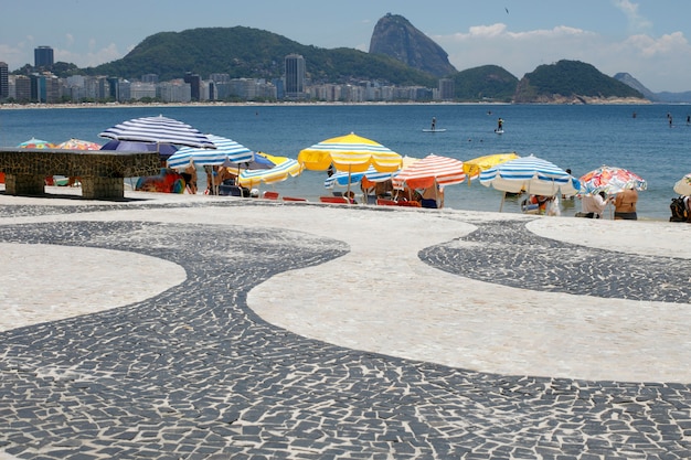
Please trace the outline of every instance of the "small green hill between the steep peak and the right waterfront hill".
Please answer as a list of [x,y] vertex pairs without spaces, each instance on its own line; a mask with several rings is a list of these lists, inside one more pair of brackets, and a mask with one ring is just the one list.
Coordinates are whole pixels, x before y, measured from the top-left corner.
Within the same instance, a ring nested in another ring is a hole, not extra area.
[[468,68],[451,75],[455,96],[464,101],[510,103],[519,79],[497,65]]

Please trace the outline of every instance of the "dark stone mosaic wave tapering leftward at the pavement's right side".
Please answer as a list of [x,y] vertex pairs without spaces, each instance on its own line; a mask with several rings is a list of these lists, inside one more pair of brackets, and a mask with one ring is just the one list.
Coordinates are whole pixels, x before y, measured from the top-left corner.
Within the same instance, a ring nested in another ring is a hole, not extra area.
[[451,274],[513,288],[629,300],[691,303],[691,260],[621,255],[530,233],[523,222],[492,222],[421,259]]

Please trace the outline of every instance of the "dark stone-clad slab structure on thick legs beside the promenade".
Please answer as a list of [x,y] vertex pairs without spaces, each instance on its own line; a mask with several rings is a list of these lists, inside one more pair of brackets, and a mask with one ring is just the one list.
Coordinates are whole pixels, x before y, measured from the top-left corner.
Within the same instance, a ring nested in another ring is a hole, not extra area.
[[157,152],[0,149],[0,171],[11,195],[42,195],[46,176],[66,175],[79,178],[85,199],[124,199],[125,178],[155,175],[159,170]]

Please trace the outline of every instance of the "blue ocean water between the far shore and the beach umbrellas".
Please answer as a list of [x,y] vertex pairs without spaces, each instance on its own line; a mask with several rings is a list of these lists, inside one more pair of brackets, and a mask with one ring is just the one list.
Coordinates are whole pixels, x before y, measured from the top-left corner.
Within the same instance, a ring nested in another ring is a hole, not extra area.
[[[636,116],[634,117],[634,113]],[[228,137],[272,154],[296,158],[323,139],[355,132],[410,157],[429,153],[469,160],[515,151],[534,154],[580,176],[599,165],[629,169],[648,182],[639,193],[639,218],[668,220],[672,186],[691,172],[691,126],[685,105],[243,105],[189,107],[111,107],[77,109],[1,109],[0,146],[32,137],[62,142],[72,137],[105,143],[98,132],[130,118],[163,115],[202,132]],[[670,128],[667,115],[673,125]],[[433,117],[445,132],[423,132]],[[496,135],[497,119],[504,133]],[[200,179],[203,174],[200,174]],[[330,191],[325,172],[306,171],[275,185],[283,195],[316,201]],[[201,186],[200,186],[201,189]],[[446,207],[499,211],[502,193],[474,181],[446,189]],[[580,210],[563,202],[562,214]],[[518,200],[503,212],[517,213]]]

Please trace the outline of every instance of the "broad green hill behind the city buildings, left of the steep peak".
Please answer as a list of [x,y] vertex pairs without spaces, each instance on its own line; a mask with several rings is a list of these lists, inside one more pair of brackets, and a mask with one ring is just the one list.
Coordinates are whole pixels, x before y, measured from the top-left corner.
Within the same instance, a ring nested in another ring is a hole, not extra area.
[[182,78],[192,72],[206,78],[226,73],[231,78],[279,78],[284,58],[305,57],[306,75],[312,82],[347,83],[376,79],[395,85],[436,86],[436,78],[380,54],[351,49],[326,50],[302,45],[285,36],[244,26],[201,28],[160,32],[146,38],[125,57],[87,68],[91,75],[140,78],[158,74],[161,81]]

